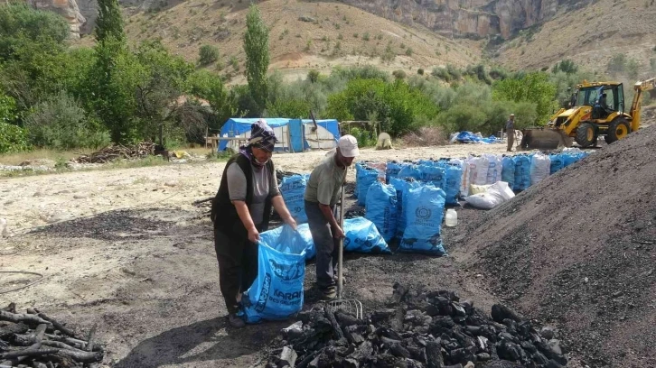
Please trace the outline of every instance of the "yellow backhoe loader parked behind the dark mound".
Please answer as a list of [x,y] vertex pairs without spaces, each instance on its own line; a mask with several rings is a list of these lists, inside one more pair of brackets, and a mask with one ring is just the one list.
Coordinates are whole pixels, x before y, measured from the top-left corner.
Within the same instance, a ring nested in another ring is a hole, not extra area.
[[656,78],[635,83],[633,103],[625,113],[622,83],[584,80],[572,98],[576,105],[558,110],[544,127],[522,130],[520,147],[553,150],[571,147],[572,140],[583,148],[593,147],[600,135],[606,143],[614,143],[640,129],[643,93],[654,88]]

